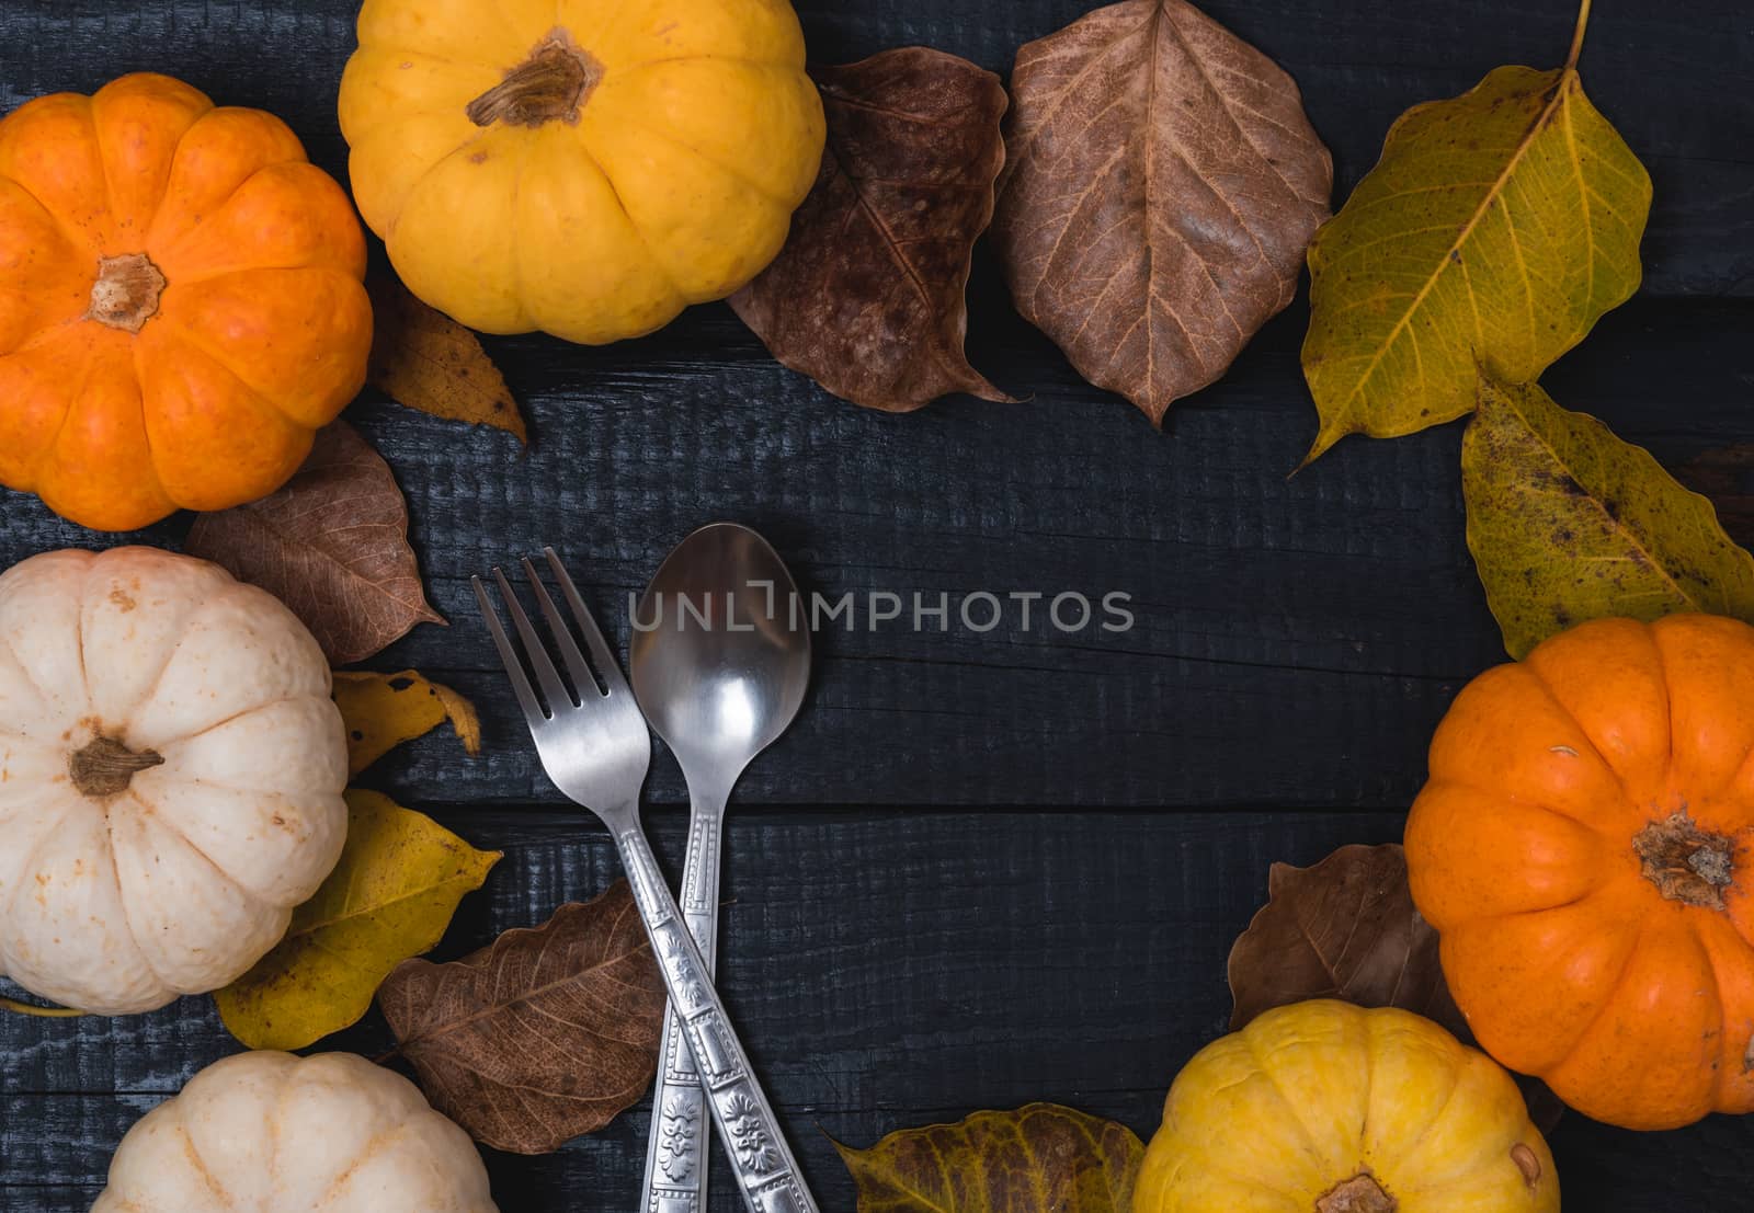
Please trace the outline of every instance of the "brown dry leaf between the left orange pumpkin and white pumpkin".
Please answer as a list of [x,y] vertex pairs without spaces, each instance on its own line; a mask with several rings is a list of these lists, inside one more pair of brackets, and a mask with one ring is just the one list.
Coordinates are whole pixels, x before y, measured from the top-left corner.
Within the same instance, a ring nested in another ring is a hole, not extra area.
[[444,624],[421,587],[402,489],[344,421],[317,431],[286,487],[200,515],[184,547],[291,606],[337,666],[370,657],[414,624]]

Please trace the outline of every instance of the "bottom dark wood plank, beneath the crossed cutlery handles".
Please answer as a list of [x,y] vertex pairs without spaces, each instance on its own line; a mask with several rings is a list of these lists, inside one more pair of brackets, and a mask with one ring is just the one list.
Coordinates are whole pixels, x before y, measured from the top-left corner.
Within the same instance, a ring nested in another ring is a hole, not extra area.
[[[656,813],[681,850],[679,813]],[[612,878],[607,836],[535,812],[446,813],[507,859],[435,955],[537,922]],[[828,1136],[870,1143],[979,1108],[1054,1099],[1149,1134],[1180,1064],[1224,1029],[1224,955],[1273,859],[1400,833],[1393,813],[738,813],[724,987],[828,1209]],[[328,1043],[388,1046],[375,1011]],[[121,1020],[0,1017],[0,1204],[81,1211],[126,1127],[235,1052],[210,1003]],[[624,1213],[645,1110],[545,1159],[493,1157],[502,1208]],[[1754,1122],[1556,1134],[1568,1208],[1735,1208]],[[1663,1160],[1665,1166],[1656,1166]],[[735,1206],[721,1169],[717,1199]],[[1579,1199],[1582,1197],[1582,1199]]]

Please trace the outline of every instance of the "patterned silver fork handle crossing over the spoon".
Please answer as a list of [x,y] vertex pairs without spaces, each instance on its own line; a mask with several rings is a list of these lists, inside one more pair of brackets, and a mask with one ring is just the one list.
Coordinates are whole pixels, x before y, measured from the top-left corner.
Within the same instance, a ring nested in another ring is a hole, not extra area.
[[[623,822],[633,817],[617,815]],[[779,1131],[779,1118],[766,1092],[756,1080],[749,1053],[737,1039],[724,1003],[712,987],[707,957],[682,924],[682,912],[658,871],[651,843],[637,824],[616,829],[616,847],[633,885],[633,901],[652,940],[652,955],[670,990],[670,1004],[682,1020],[688,1046],[695,1053],[707,1110],[719,1127],[719,1139],[737,1171],[738,1190],[749,1213],[817,1213],[816,1199],[803,1187],[803,1174],[791,1146]],[[686,1206],[682,1206],[686,1208]],[[658,1213],[647,1208],[642,1213]],[[663,1213],[670,1213],[665,1209]]]

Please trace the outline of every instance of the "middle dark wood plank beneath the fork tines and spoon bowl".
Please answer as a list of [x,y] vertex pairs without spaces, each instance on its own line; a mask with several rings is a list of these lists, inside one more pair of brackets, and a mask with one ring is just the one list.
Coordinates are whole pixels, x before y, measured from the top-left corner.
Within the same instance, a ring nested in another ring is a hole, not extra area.
[[[1750,321],[1740,301],[1638,303],[1547,384],[1682,459],[1749,435]],[[530,454],[361,405],[456,621],[372,664],[453,682],[488,724],[484,759],[430,738],[372,782],[428,803],[554,803],[467,577],[556,543],[624,636],[628,594],[668,545],[731,517],[830,599],[1119,589],[1137,615],[1124,635],[1059,635],[1040,603],[1030,631],[1016,606],[993,633],[866,631],[863,608],[858,631],[824,626],[810,703],[747,775],[745,803],[1403,806],[1456,689],[1503,659],[1463,543],[1459,426],[1347,440],[1287,479],[1312,429],[1301,330],[1275,323],[1166,435],[1080,386],[1021,321],[984,338],[989,365],[1040,387],[1014,408],[852,408],[714,310],[661,344],[498,344],[533,415]],[[0,563],[95,540],[33,500],[0,514]],[[654,764],[651,796],[684,801],[674,764]]]

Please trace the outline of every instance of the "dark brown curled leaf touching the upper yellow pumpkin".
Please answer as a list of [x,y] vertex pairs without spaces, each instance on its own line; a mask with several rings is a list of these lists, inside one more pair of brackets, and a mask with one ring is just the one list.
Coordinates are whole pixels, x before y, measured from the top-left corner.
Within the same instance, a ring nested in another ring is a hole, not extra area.
[[791,237],[731,307],[768,351],[866,408],[1010,396],[963,354],[968,265],[1005,163],[1005,88],[928,47],[812,68],[828,116]]

